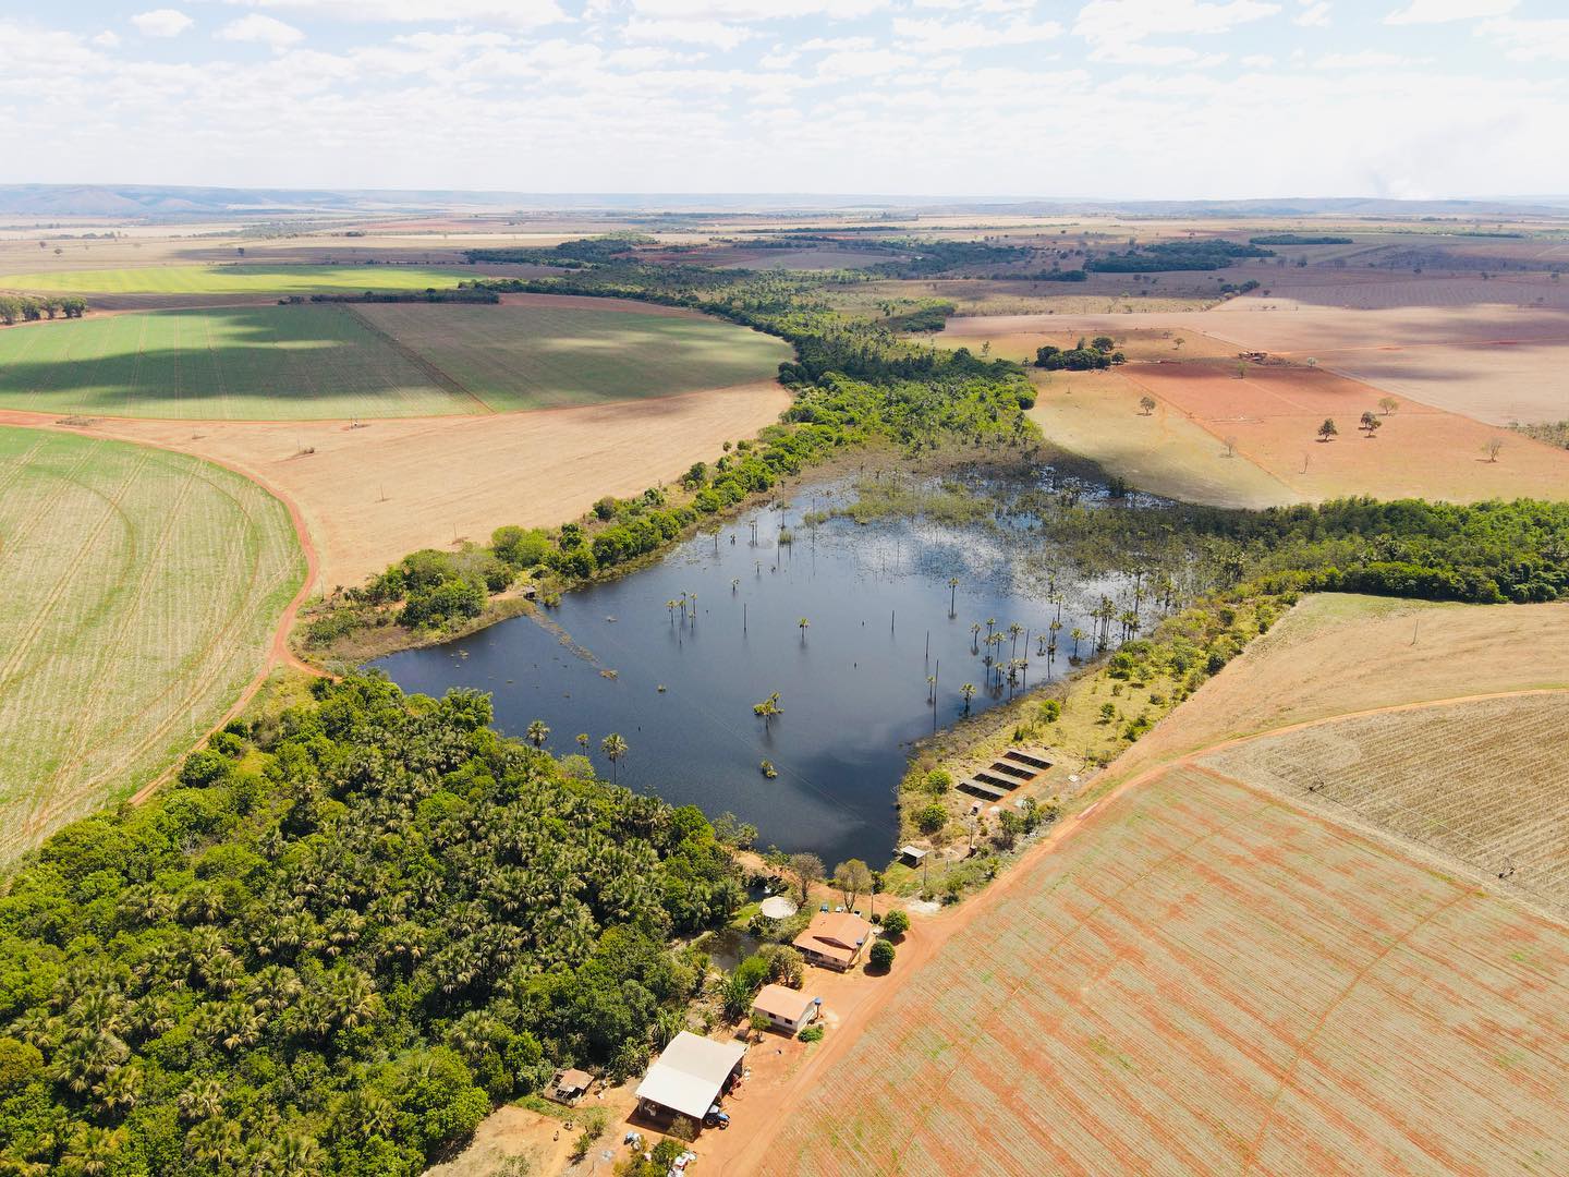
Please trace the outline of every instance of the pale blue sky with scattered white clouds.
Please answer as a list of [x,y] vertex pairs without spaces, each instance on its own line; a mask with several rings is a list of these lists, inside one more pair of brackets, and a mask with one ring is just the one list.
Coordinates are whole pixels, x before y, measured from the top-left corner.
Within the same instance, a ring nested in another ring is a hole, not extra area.
[[0,182],[1569,193],[1566,9],[0,0]]

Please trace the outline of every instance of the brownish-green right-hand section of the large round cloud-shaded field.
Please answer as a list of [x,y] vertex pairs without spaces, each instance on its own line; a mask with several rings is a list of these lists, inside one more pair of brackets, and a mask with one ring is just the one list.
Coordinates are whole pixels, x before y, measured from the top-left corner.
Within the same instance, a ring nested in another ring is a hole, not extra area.
[[770,380],[789,344],[719,319],[621,306],[355,308],[497,413]]

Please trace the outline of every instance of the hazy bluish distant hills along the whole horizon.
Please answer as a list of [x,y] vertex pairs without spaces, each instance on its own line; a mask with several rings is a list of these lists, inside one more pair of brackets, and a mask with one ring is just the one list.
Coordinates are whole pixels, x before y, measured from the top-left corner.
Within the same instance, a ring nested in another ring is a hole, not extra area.
[[1277,198],[1252,201],[1105,201],[1028,196],[954,198],[813,193],[526,193],[392,188],[202,188],[138,184],[3,184],[0,217],[202,220],[298,213],[413,213],[431,210],[574,212],[802,212],[919,210],[1062,217],[1528,217],[1563,215],[1569,196],[1487,201]]

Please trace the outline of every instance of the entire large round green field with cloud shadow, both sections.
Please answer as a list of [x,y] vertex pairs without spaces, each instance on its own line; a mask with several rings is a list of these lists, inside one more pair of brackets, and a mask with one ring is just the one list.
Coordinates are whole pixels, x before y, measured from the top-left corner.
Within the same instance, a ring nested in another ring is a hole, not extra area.
[[788,344],[581,306],[143,311],[0,330],[0,408],[191,421],[455,416],[774,377]]

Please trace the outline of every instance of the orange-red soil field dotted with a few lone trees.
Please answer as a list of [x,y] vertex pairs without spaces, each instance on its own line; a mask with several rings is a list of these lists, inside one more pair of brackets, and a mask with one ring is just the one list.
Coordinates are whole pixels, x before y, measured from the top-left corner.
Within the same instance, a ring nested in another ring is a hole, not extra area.
[[[1385,394],[1324,369],[1247,364],[1238,378],[1235,361],[1196,361],[1130,364],[1123,372],[1216,438],[1236,438],[1241,457],[1307,499],[1475,502],[1569,491],[1569,452],[1401,397],[1382,416],[1378,402]],[[1382,421],[1371,438],[1357,428],[1365,411]],[[1320,441],[1326,419],[1340,433]],[[1486,452],[1494,439],[1502,443],[1497,461]]]

